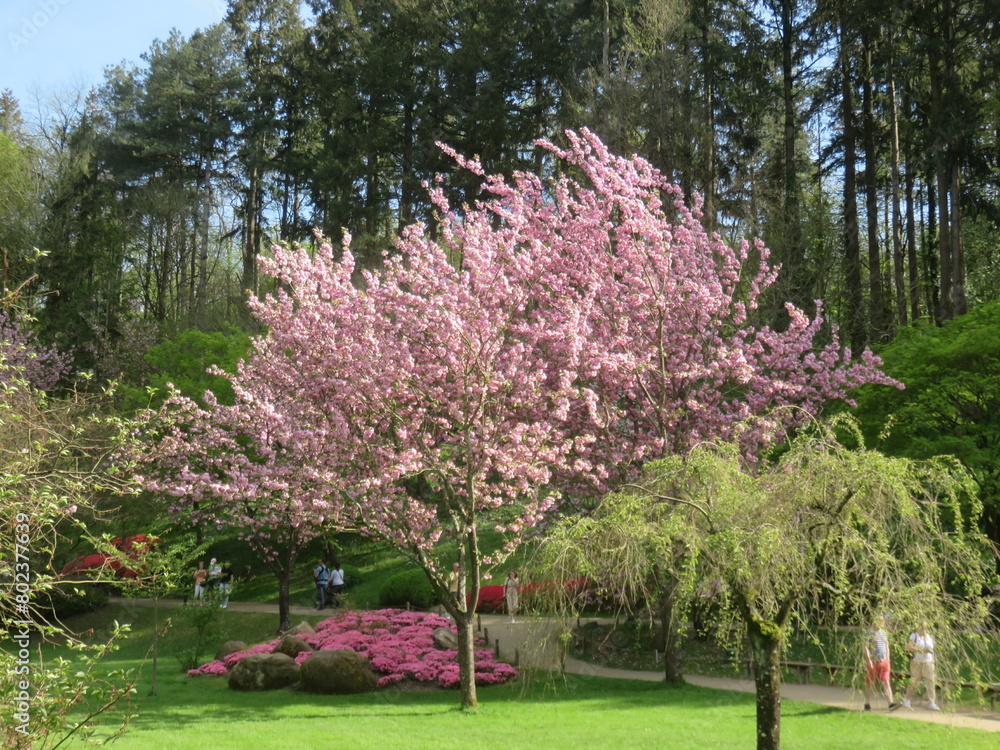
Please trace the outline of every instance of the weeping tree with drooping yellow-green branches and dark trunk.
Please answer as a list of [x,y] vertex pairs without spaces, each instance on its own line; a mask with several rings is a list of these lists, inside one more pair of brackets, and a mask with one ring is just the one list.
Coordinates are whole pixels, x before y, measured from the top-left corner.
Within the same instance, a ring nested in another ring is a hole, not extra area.
[[857,662],[856,636],[841,626],[890,613],[902,647],[925,621],[943,677],[986,680],[980,594],[996,550],[976,530],[980,512],[957,461],[883,456],[840,417],[803,431],[773,462],[702,443],[651,463],[593,516],[558,524],[542,554],[555,577],[591,576],[625,604],[664,595],[657,582],[670,580],[678,617],[664,626],[675,632],[711,592],[710,629],[751,651],[757,747],[777,748],[780,660],[795,631],[828,658]]

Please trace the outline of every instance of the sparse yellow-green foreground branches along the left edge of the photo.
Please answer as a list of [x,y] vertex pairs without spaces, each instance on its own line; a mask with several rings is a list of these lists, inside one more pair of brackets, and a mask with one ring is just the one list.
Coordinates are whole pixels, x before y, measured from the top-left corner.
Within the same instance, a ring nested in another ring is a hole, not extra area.
[[[117,735],[131,716],[132,678],[101,667],[122,631],[87,645],[43,624],[53,603],[63,607],[64,591],[56,591],[59,579],[53,570],[65,544],[64,529],[75,525],[86,536],[84,521],[95,496],[130,490],[127,479],[107,469],[116,439],[124,435],[102,413],[106,403],[75,392],[50,398],[17,378],[0,388],[0,579],[14,589],[13,595],[0,595],[0,621],[9,623],[15,645],[0,651],[0,695],[5,697],[0,746],[5,748],[42,750],[70,735],[86,737],[98,731],[105,714],[109,721],[99,731]],[[34,625],[15,624],[24,622]],[[44,658],[37,648],[39,634],[65,644],[72,658]],[[30,698],[17,700],[23,693]],[[22,703],[30,713],[27,722],[15,715],[22,713]],[[117,708],[123,711],[107,713]]]

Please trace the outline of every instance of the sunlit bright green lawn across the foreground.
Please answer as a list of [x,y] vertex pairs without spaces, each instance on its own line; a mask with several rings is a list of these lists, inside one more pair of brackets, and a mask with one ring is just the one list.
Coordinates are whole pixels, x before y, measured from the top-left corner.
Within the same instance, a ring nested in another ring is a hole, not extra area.
[[[166,614],[166,612],[161,613]],[[228,636],[268,640],[273,616],[224,612]],[[239,693],[225,679],[188,677],[170,654],[190,645],[193,632],[170,631],[162,642],[157,696],[150,696],[148,608],[109,607],[73,620],[98,637],[117,618],[133,631],[109,668],[141,669],[139,715],[115,743],[120,750],[210,747],[254,750],[289,747],[438,750],[461,739],[470,747],[748,748],[754,745],[752,695],[685,685],[548,673],[509,685],[480,688],[480,710],[458,710],[456,691],[389,689],[360,696],[315,696],[289,690]],[[318,617],[311,618],[320,619]],[[993,733],[783,702],[786,748],[996,747]],[[72,745],[79,747],[79,745]]]

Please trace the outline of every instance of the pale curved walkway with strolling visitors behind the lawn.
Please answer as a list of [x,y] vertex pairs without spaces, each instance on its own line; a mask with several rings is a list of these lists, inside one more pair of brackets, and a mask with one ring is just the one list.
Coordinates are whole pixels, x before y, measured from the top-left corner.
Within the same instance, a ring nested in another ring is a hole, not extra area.
[[[125,599],[111,597],[110,604],[134,606],[151,606],[150,599]],[[179,599],[161,599],[164,606],[180,605]],[[278,614],[277,604],[262,602],[229,602],[229,609],[235,612],[263,612]],[[295,617],[305,615],[315,616],[319,613],[312,607],[291,607],[290,612]],[[330,614],[334,614],[330,610]],[[550,618],[528,618],[511,623],[506,615],[482,615],[479,618],[481,635],[487,638],[491,648],[499,650],[500,655],[508,661],[538,669],[559,670],[572,674],[595,675],[628,680],[648,680],[659,682],[663,679],[660,672],[643,672],[630,669],[612,669],[597,664],[567,657],[565,665],[559,664],[559,649],[556,648],[560,622]],[[714,688],[717,690],[735,690],[744,693],[754,692],[754,683],[750,679],[730,677],[703,677],[701,675],[684,675],[685,681],[692,685]],[[819,703],[848,711],[858,711],[864,706],[863,697],[850,688],[826,685],[800,685],[786,682],[781,686],[781,696],[786,700]],[[885,699],[876,698],[876,706],[884,706]],[[886,709],[876,709],[876,714],[885,714]],[[1000,714],[984,709],[960,708],[944,711],[928,711],[915,706],[912,709],[898,708],[889,714],[895,718],[928,721],[935,724],[947,724],[954,727],[968,727],[987,732],[1000,732]]]

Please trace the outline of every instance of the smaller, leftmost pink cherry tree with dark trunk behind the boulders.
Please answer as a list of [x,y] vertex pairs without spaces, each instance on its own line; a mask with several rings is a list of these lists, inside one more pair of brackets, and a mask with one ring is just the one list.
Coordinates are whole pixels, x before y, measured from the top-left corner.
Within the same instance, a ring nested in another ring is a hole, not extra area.
[[331,501],[327,468],[312,460],[321,450],[311,442],[316,433],[299,428],[294,405],[275,398],[269,381],[239,374],[236,381],[233,406],[206,392],[201,407],[175,392],[142,415],[153,445],[133,458],[146,489],[170,498],[171,518],[236,529],[266,563],[278,584],[282,631],[291,627],[291,575],[303,547],[340,524],[341,506]]

